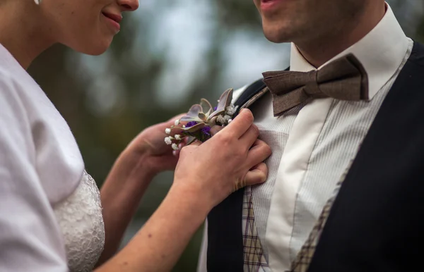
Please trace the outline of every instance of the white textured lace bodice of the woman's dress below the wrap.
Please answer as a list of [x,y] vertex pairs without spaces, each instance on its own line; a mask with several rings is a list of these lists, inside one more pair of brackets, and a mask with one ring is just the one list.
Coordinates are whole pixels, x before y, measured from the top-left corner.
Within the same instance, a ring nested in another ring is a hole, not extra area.
[[80,185],[54,206],[66,245],[70,271],[92,271],[105,245],[100,192],[84,171]]

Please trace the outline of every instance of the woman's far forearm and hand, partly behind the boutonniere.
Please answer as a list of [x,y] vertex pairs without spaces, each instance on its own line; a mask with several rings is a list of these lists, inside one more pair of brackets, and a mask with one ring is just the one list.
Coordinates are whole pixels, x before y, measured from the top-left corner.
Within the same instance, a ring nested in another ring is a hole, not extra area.
[[165,128],[174,125],[180,117],[143,130],[115,161],[100,190],[106,235],[98,266],[117,252],[126,227],[154,176],[160,171],[175,169],[178,158],[164,138]]

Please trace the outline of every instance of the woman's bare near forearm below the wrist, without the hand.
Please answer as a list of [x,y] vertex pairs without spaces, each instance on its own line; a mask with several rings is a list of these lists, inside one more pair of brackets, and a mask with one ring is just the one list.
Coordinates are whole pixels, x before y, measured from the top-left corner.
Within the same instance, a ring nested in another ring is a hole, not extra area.
[[209,211],[193,194],[172,188],[129,245],[95,272],[170,271]]

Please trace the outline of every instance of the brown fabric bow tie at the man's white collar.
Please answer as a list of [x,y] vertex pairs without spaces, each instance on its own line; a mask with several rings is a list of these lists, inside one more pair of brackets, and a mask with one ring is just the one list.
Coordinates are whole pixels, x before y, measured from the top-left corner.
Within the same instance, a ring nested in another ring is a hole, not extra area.
[[367,100],[368,76],[353,54],[348,54],[307,73],[266,72],[264,83],[273,97],[274,116],[312,98],[333,97],[340,100]]

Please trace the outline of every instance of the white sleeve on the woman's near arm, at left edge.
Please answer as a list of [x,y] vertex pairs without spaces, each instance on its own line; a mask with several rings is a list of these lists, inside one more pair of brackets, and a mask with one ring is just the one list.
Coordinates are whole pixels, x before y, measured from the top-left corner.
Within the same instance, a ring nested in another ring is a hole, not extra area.
[[17,88],[0,76],[0,271],[68,271],[59,225],[37,175],[32,128]]

